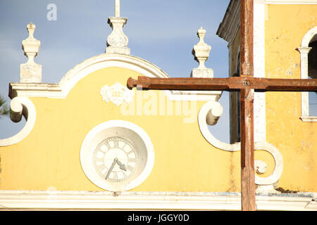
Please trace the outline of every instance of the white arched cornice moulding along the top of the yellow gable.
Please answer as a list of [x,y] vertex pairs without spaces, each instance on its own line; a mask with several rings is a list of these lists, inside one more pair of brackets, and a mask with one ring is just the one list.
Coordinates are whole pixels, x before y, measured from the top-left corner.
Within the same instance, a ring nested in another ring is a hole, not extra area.
[[[87,75],[103,68],[116,67],[133,70],[146,77],[168,78],[166,72],[142,58],[103,53],[76,65],[75,68],[67,72],[58,84],[10,83],[9,96],[11,98],[15,96],[66,98],[73,86]],[[220,98],[221,94],[220,91],[204,91],[201,93],[194,91],[166,91],[165,93],[170,100],[181,98],[181,101],[193,101],[192,96],[194,95],[196,95],[194,101],[214,101]]]

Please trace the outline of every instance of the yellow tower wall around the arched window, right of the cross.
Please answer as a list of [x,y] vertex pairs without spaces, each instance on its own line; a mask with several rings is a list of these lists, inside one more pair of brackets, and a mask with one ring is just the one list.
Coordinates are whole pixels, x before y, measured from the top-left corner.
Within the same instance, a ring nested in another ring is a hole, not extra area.
[[[266,77],[300,78],[304,34],[316,27],[316,5],[268,5],[266,27]],[[266,94],[266,138],[284,160],[279,187],[317,192],[317,123],[302,122],[301,94]]]

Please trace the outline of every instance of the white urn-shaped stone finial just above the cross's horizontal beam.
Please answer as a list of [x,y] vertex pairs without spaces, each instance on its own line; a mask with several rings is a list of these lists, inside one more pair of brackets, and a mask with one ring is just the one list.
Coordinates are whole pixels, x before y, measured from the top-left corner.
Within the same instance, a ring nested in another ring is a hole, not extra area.
[[199,42],[192,50],[194,59],[199,63],[199,67],[192,70],[192,74],[190,75],[191,77],[213,77],[213,70],[205,67],[205,62],[211,51],[211,46],[204,42],[205,34],[206,30],[204,30],[203,27],[200,27],[197,32]]

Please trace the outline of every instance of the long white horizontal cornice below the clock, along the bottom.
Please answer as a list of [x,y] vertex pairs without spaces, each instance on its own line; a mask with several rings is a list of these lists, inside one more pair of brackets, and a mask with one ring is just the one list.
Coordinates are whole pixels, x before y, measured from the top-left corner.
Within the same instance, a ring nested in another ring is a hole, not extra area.
[[[316,211],[316,193],[256,195],[257,210]],[[240,193],[0,191],[0,210],[241,210]]]

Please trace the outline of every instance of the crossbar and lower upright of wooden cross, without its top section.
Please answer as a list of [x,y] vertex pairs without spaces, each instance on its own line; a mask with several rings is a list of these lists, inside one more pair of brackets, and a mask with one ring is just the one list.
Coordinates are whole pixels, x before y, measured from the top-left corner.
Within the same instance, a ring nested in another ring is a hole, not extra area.
[[254,173],[254,91],[317,91],[317,79],[268,79],[249,76],[228,78],[128,79],[127,86],[143,90],[240,91],[242,210],[256,210]]

